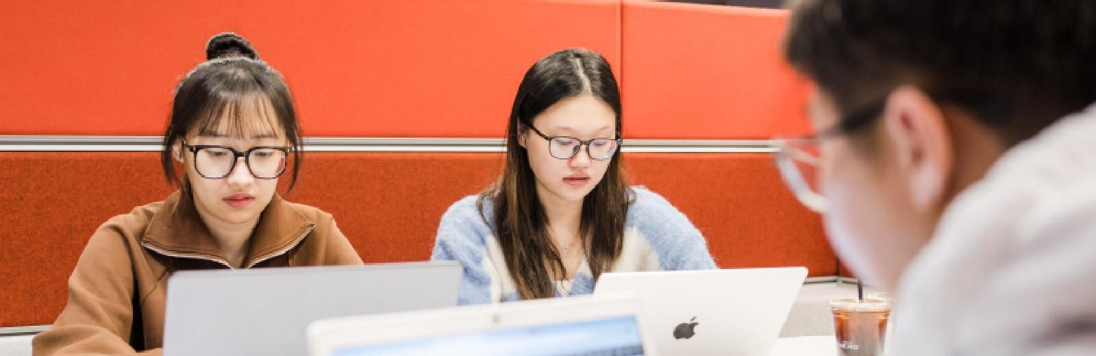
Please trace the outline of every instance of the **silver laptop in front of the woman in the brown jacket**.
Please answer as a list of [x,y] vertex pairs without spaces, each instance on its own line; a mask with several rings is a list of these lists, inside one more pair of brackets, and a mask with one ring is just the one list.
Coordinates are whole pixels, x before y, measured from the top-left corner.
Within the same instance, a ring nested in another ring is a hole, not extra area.
[[305,355],[308,323],[457,305],[457,262],[179,272],[168,280],[163,353]]

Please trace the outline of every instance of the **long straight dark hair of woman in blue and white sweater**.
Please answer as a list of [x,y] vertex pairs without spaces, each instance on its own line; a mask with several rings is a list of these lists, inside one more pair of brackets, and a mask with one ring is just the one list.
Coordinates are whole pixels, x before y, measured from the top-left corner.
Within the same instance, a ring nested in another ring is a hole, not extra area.
[[[559,250],[548,233],[548,217],[537,197],[536,176],[528,153],[518,145],[533,118],[559,101],[591,94],[616,113],[620,136],[620,92],[608,61],[589,49],[564,49],[541,58],[525,72],[506,127],[506,166],[502,177],[480,194],[479,206],[490,199],[495,236],[510,276],[523,299],[556,295],[549,268],[566,274]],[[624,246],[624,223],[631,199],[619,150],[605,176],[582,202],[580,238],[594,279],[613,268]],[[483,218],[487,220],[487,217]]]

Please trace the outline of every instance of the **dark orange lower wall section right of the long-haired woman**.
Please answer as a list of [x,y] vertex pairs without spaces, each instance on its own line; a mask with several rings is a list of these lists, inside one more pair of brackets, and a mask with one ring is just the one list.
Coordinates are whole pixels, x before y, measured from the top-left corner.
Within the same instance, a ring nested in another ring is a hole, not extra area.
[[780,181],[766,153],[630,153],[633,184],[677,206],[708,239],[724,268],[807,266],[836,273],[819,216]]

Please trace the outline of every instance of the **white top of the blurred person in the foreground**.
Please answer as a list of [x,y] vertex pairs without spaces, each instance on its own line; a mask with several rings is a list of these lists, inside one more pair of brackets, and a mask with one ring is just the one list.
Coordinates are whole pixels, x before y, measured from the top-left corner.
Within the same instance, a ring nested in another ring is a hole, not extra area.
[[888,356],[1096,355],[1096,105],[961,193],[897,303]]

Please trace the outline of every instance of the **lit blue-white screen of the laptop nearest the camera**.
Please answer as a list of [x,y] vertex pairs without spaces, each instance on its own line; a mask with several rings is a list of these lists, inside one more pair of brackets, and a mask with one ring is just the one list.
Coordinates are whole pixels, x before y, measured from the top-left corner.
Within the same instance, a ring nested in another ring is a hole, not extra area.
[[491,329],[414,341],[340,347],[334,356],[363,355],[643,355],[635,317],[528,328]]

